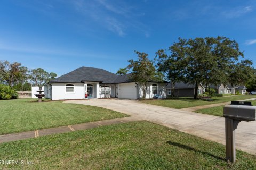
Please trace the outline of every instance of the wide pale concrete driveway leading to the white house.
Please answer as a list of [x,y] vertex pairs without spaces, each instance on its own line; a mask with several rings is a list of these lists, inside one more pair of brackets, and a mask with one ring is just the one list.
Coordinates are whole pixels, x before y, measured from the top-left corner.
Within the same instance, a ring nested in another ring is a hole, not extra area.
[[[225,145],[225,118],[155,106],[136,100],[89,99],[64,103],[98,106],[135,116]],[[236,130],[236,148],[256,155],[256,121],[241,122]]]

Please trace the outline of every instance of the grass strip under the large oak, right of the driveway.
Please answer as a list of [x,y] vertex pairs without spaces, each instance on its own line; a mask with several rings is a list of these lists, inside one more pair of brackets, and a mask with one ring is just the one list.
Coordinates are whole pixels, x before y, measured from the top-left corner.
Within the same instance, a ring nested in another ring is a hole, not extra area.
[[189,97],[180,97],[175,99],[164,99],[164,100],[143,100],[141,102],[157,105],[157,106],[164,106],[164,107],[171,107],[171,108],[187,108],[187,107],[194,107],[194,106],[201,106],[201,105],[210,105],[214,103],[222,103],[231,100],[244,100],[255,98],[255,96],[232,96],[232,97],[212,97],[213,101],[205,101],[201,99],[193,99]]

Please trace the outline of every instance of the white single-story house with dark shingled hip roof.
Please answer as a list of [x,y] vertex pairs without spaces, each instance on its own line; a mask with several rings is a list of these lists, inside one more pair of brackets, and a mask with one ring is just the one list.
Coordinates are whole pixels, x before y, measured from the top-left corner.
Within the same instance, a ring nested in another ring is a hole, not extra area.
[[[87,92],[88,98],[141,98],[141,86],[133,82],[130,76],[116,75],[93,67],[80,67],[49,81],[47,87],[44,87],[47,89],[45,97],[52,100],[84,99]],[[166,98],[166,83],[149,82],[146,98]]]

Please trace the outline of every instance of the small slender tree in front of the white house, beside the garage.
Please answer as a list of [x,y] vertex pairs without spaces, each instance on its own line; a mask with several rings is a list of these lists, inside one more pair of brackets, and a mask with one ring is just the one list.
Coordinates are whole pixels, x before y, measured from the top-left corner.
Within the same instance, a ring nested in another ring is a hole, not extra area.
[[147,53],[134,51],[138,55],[138,60],[129,60],[130,64],[127,69],[132,69],[131,78],[137,82],[142,88],[142,99],[146,98],[149,81],[163,81],[162,74],[156,72],[154,62],[149,60]]

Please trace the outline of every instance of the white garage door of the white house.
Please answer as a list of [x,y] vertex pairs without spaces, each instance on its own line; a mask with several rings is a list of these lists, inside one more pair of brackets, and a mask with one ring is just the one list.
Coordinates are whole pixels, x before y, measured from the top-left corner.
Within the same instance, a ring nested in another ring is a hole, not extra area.
[[137,88],[135,83],[119,84],[119,98],[137,99]]

